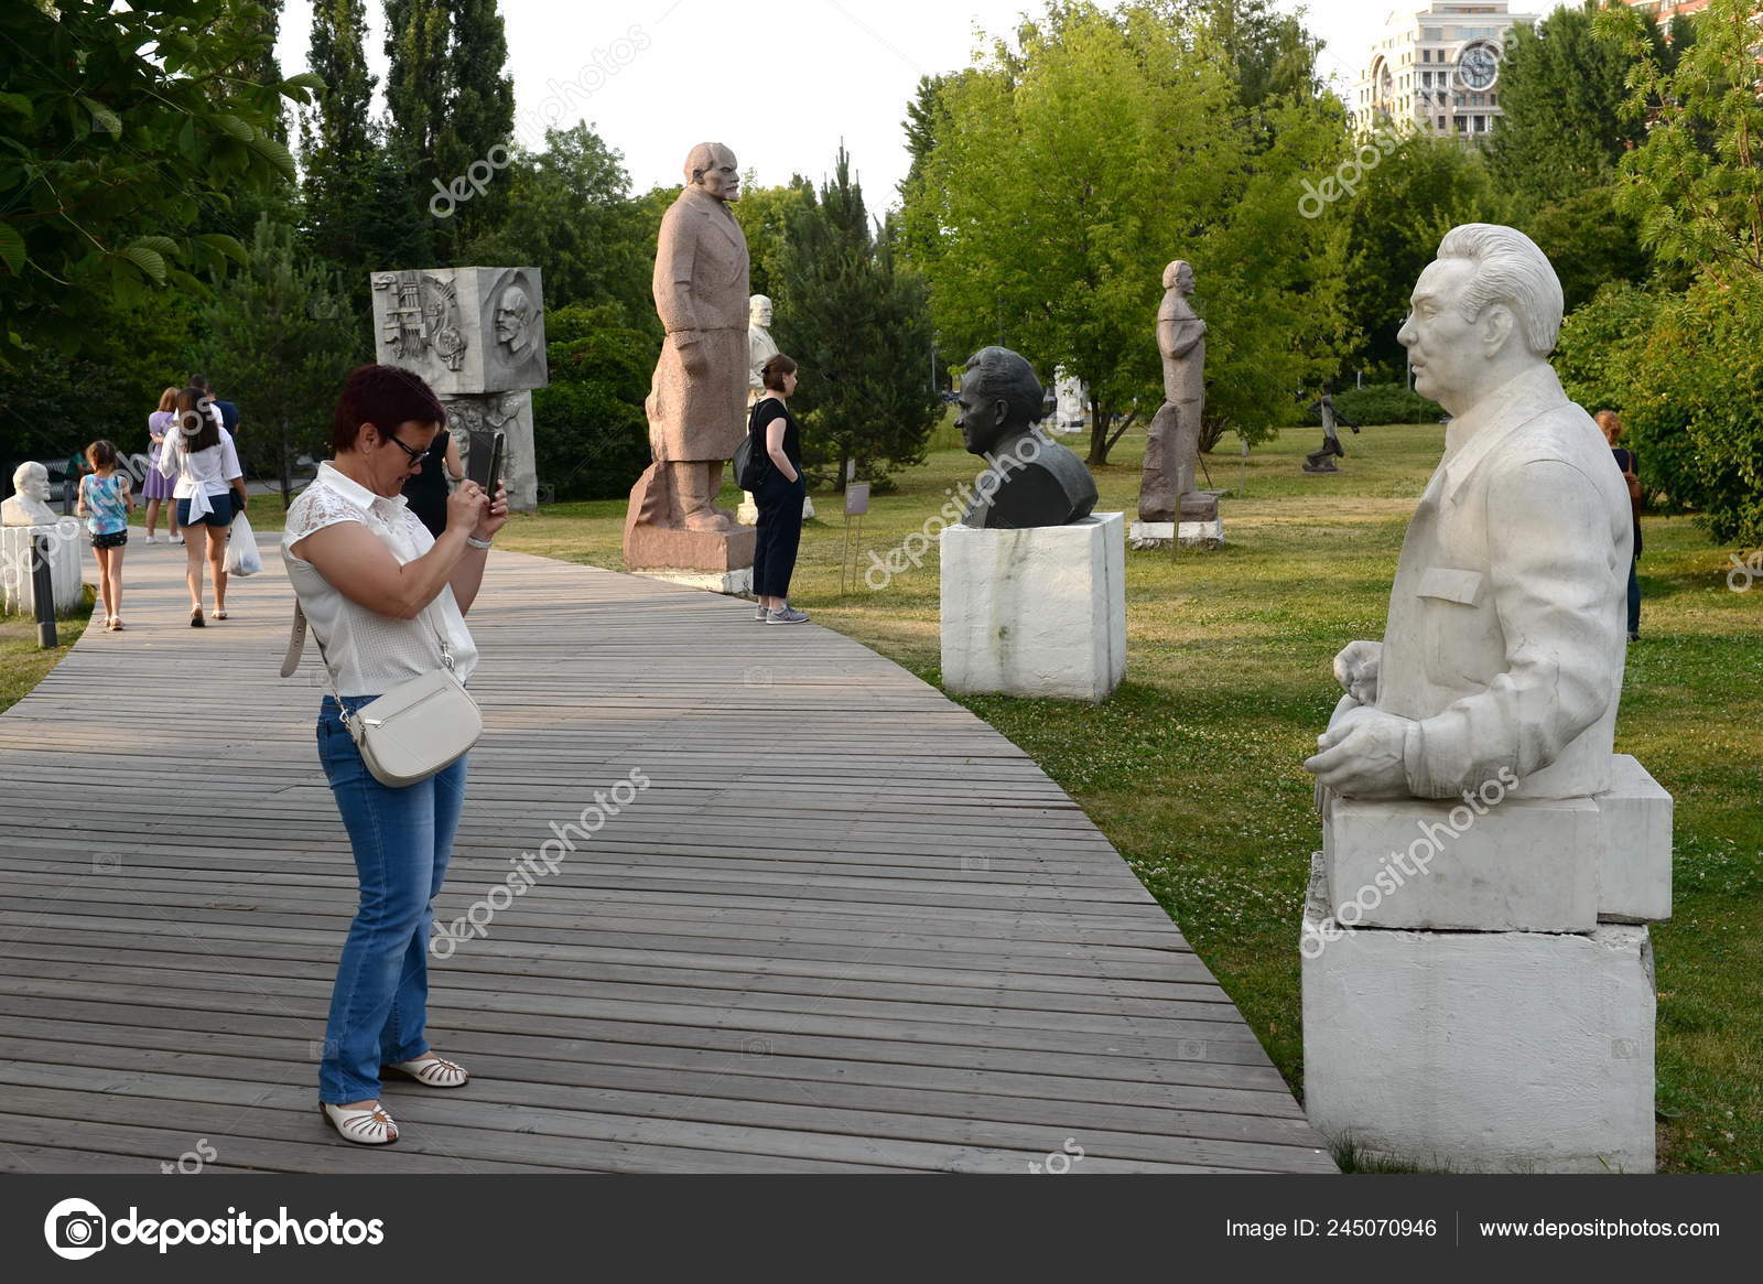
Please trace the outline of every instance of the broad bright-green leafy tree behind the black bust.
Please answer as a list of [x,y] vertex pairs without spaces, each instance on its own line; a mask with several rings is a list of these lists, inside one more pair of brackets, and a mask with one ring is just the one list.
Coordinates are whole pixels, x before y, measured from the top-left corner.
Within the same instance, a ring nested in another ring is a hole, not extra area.
[[1054,4],[1015,39],[941,88],[906,194],[940,346],[1003,342],[1042,377],[1082,379],[1090,462],[1105,464],[1162,400],[1160,279],[1188,259],[1213,432],[1289,422],[1291,390],[1333,369],[1340,330],[1338,235],[1299,213],[1303,176],[1345,150],[1338,106],[1245,109],[1192,7]]

